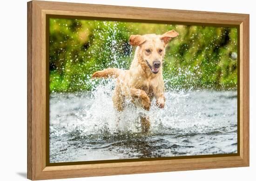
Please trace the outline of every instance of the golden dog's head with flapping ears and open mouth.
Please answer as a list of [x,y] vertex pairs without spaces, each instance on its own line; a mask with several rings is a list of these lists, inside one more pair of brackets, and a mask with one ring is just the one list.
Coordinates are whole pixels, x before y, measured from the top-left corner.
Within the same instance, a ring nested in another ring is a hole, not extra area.
[[[131,35],[129,43],[132,46],[139,46],[137,52],[141,61],[147,63],[148,68],[153,74],[157,74],[162,66],[165,47],[173,37],[179,33],[174,30],[168,31],[162,35]],[[143,62],[143,63],[144,63]]]

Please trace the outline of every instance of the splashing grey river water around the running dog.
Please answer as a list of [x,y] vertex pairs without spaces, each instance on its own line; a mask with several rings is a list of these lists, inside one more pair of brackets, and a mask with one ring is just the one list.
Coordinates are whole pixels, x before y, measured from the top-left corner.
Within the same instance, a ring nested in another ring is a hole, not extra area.
[[[113,87],[110,81],[92,92],[51,94],[50,162],[237,153],[236,91],[168,91],[164,109],[128,103],[117,113]],[[149,115],[148,134],[141,133],[141,113]]]

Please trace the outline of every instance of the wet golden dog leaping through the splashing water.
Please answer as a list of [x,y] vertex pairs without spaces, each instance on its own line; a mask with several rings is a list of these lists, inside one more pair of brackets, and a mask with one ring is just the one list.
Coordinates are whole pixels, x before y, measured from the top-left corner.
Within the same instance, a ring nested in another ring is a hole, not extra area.
[[[115,110],[123,111],[125,101],[130,99],[136,106],[149,111],[155,97],[156,105],[165,105],[162,63],[168,42],[179,34],[175,30],[162,35],[131,35],[129,44],[136,46],[135,56],[129,70],[109,68],[95,72],[92,78],[116,78],[112,97]],[[148,132],[149,118],[141,116],[141,131]]]

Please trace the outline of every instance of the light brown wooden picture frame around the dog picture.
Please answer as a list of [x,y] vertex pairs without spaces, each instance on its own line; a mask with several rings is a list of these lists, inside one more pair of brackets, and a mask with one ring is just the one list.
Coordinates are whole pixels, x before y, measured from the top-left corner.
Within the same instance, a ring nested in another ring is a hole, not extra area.
[[[164,21],[188,25],[230,25],[238,28],[238,154],[192,156],[153,161],[47,165],[47,15]],[[249,15],[106,6],[64,2],[27,3],[27,178],[31,180],[138,174],[249,166]]]

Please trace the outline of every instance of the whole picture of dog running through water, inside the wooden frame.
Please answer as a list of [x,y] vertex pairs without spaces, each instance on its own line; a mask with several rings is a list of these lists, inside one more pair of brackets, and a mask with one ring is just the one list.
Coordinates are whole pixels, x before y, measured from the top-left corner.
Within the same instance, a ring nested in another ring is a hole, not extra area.
[[48,28],[50,163],[237,153],[237,28]]

